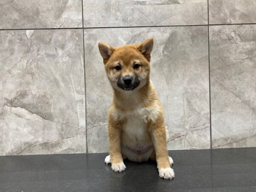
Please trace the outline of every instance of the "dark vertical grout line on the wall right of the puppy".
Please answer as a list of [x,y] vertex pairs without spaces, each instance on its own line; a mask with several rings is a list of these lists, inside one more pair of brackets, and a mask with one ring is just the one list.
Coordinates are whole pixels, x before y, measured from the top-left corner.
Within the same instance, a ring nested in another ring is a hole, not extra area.
[[211,108],[211,79],[210,79],[210,35],[209,35],[209,0],[207,0],[208,12],[208,69],[209,69],[209,116],[210,116],[210,149],[212,149],[212,108]]

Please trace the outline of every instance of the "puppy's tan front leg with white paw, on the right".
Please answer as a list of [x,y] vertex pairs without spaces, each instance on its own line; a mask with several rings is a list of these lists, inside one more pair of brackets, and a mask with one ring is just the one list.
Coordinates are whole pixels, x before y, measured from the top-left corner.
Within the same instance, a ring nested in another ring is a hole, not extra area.
[[173,179],[175,175],[169,163],[164,122],[150,122],[149,128],[151,139],[156,151],[159,176],[164,179]]

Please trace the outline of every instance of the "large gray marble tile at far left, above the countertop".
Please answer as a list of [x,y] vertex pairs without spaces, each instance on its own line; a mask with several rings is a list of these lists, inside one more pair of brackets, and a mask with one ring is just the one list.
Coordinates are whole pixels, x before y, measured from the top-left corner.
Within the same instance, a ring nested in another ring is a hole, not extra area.
[[86,152],[82,29],[0,31],[0,155]]

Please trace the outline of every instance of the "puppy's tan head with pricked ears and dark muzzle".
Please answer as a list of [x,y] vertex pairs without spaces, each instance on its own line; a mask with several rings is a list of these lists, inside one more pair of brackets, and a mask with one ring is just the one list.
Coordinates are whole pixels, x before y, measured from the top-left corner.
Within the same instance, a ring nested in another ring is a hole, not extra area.
[[153,39],[122,47],[111,47],[108,44],[99,43],[99,52],[114,89],[127,91],[140,89],[149,81],[152,48]]

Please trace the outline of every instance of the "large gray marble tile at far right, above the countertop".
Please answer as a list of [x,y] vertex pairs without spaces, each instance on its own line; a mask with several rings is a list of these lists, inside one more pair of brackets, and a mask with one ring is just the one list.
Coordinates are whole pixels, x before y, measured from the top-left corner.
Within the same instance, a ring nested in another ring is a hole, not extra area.
[[212,147],[256,147],[256,25],[209,34]]

